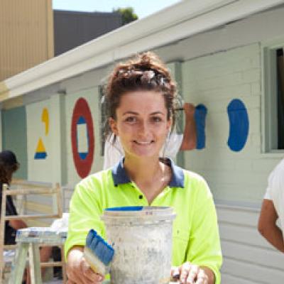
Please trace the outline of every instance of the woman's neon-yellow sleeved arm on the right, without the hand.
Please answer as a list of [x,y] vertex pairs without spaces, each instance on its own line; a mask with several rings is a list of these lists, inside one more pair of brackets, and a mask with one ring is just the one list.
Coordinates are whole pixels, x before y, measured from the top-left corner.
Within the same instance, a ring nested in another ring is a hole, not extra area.
[[[192,228],[187,261],[198,266],[200,271],[204,271],[207,283],[219,284],[222,251],[216,209],[207,182],[200,179],[195,186],[196,197],[192,207]],[[204,276],[201,275],[200,277],[203,278]]]

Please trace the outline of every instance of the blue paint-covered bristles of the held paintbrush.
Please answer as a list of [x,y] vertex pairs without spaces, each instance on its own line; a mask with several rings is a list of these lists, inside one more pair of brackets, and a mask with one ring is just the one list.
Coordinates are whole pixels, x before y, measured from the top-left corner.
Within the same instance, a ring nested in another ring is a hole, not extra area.
[[107,241],[104,241],[94,229],[89,230],[86,246],[105,266],[108,266],[114,258],[114,248],[107,244]]

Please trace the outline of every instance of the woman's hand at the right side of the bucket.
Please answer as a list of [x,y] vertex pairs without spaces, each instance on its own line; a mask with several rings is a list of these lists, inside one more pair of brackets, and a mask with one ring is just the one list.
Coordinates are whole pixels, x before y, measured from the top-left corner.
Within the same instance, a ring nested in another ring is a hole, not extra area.
[[172,278],[181,284],[211,284],[214,283],[214,274],[209,268],[195,266],[190,262],[171,269]]

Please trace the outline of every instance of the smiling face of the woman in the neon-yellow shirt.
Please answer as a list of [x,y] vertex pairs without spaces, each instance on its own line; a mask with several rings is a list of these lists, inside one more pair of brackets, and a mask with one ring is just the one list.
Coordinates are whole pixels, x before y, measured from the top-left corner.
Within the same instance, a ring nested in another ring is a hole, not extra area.
[[172,121],[167,120],[160,92],[136,91],[121,96],[111,130],[119,136],[126,157],[158,157]]

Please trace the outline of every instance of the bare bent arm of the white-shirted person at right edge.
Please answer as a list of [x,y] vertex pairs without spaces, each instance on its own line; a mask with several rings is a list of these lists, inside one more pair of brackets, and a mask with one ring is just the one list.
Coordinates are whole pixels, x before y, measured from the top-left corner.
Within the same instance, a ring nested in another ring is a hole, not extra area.
[[284,253],[283,234],[276,224],[277,219],[278,214],[272,200],[264,199],[258,219],[258,231],[270,244]]

